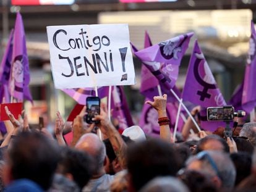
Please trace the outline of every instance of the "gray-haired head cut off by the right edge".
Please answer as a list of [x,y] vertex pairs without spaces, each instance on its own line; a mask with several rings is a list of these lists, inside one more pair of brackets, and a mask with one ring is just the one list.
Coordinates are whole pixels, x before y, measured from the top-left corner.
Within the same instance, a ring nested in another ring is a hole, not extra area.
[[239,133],[239,136],[249,138],[250,142],[256,146],[256,123],[245,123]]

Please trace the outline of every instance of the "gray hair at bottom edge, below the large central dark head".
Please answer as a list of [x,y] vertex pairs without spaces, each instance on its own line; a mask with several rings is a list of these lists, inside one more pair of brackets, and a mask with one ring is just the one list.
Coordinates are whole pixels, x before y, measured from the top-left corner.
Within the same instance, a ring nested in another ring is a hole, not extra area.
[[156,177],[143,186],[140,192],[189,192],[187,186],[175,177]]

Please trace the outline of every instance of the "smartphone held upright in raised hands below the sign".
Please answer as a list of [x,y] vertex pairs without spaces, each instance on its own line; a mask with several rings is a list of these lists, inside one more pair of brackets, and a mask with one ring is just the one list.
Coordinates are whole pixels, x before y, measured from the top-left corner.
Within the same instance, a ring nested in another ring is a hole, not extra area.
[[100,123],[99,121],[92,120],[95,115],[100,114],[100,98],[98,97],[88,97],[86,99],[87,115],[85,115],[85,122]]

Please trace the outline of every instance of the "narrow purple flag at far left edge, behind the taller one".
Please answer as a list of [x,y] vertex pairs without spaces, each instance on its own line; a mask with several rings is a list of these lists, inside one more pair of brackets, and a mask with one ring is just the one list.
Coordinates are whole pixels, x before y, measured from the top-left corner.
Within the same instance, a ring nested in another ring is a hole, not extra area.
[[6,51],[2,57],[1,67],[0,67],[0,80],[1,85],[8,85],[11,71],[12,62],[12,40],[14,38],[14,30],[11,30],[9,40],[7,43]]

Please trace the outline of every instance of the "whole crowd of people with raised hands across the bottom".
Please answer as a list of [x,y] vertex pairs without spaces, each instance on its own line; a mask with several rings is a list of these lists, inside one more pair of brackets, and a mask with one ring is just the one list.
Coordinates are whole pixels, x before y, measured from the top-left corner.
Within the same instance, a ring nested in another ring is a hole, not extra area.
[[221,127],[191,131],[188,117],[173,140],[166,100],[164,94],[147,101],[158,112],[159,138],[136,125],[121,135],[103,104],[97,125],[83,122],[85,107],[75,117],[69,146],[59,112],[51,134],[30,128],[27,115],[15,119],[6,107],[0,191],[256,191],[256,123],[236,119],[239,126],[225,138]]

